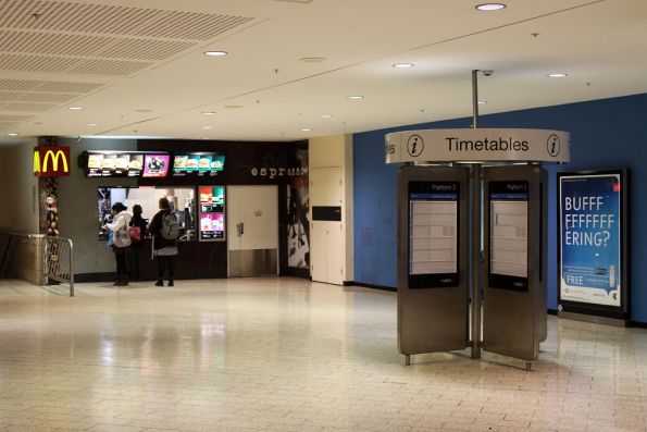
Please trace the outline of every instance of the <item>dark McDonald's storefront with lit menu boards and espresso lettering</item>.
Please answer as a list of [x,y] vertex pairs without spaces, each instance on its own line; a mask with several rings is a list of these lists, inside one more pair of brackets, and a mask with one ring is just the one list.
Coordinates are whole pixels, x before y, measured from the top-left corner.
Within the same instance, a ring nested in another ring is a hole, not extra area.
[[[58,226],[75,244],[78,282],[113,277],[114,258],[101,230],[110,207],[120,201],[132,212],[133,205],[140,205],[150,221],[161,197],[170,199],[181,224],[177,280],[248,275],[245,266],[260,261],[264,274],[309,276],[307,141],[69,141],[60,139],[70,144],[78,163],[60,180]],[[257,198],[237,198],[240,193]],[[274,210],[262,208],[263,200]],[[252,220],[236,223],[239,208],[247,208]],[[267,219],[271,212],[276,215]],[[275,250],[250,240],[240,246],[259,223],[274,238]],[[157,276],[151,243],[142,238],[144,281]]]

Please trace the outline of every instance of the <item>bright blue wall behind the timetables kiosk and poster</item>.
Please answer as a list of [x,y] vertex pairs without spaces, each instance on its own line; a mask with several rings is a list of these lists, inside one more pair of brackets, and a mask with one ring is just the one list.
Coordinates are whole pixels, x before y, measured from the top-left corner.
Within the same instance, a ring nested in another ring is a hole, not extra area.
[[[395,287],[397,250],[396,173],[384,163],[384,135],[415,128],[471,127],[471,119],[372,131],[353,137],[354,280]],[[550,177],[548,207],[548,308],[557,309],[558,171],[631,169],[630,263],[632,320],[647,322],[647,94],[557,107],[484,115],[481,127],[547,128],[571,133],[571,163],[546,165]]]

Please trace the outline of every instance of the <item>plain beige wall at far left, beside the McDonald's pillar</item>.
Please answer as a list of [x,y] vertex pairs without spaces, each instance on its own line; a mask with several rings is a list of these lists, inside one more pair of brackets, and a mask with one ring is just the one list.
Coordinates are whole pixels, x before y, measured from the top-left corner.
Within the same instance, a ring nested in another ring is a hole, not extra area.
[[38,234],[38,177],[34,175],[36,145],[36,139],[28,139],[0,146],[0,230]]

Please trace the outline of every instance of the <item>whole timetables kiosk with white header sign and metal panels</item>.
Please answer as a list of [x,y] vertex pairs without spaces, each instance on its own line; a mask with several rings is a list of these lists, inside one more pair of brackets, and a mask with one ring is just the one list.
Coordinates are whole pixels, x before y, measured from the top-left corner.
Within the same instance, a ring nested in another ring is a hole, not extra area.
[[[398,172],[398,347],[531,362],[546,340],[547,175],[569,134],[430,129],[386,136]],[[514,163],[511,163],[514,162]],[[434,165],[432,165],[434,164]]]

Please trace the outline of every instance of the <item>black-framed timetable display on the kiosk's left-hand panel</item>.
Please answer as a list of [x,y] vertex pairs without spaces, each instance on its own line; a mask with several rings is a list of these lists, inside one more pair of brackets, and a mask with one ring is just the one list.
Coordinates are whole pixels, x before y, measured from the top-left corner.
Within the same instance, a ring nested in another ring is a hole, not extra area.
[[409,183],[409,288],[458,286],[458,182]]

